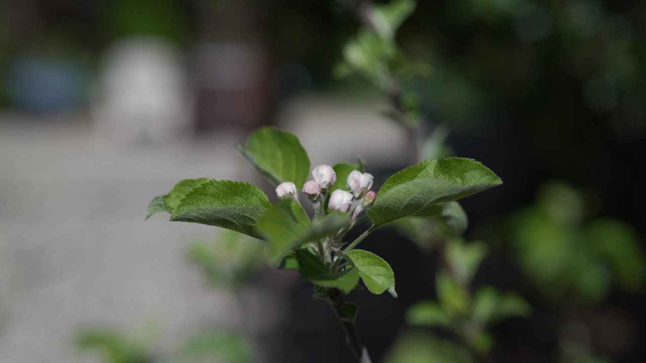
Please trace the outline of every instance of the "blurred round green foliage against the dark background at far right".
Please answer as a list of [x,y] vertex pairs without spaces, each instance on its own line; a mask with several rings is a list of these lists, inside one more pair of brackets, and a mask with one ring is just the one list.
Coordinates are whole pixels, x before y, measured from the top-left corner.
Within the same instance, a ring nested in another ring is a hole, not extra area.
[[644,287],[636,233],[620,220],[585,218],[581,192],[567,183],[544,185],[535,205],[510,218],[510,233],[518,263],[545,296],[598,302],[614,284]]

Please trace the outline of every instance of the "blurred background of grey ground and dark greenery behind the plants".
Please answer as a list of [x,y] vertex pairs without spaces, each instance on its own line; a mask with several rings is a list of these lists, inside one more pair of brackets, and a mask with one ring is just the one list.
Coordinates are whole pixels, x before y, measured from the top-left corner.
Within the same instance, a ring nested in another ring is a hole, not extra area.
[[[262,125],[312,165],[409,165],[384,95],[337,77],[359,26],[351,0],[3,1],[0,362],[352,362],[260,242],[143,218],[184,178],[272,192],[233,149]],[[492,326],[490,361],[643,362],[646,2],[419,1],[397,44],[428,66],[406,83],[426,129],[505,182],[463,203],[489,251],[474,284],[532,309]],[[399,293],[350,296],[372,358],[455,362],[405,318],[437,255],[391,229],[362,248]]]

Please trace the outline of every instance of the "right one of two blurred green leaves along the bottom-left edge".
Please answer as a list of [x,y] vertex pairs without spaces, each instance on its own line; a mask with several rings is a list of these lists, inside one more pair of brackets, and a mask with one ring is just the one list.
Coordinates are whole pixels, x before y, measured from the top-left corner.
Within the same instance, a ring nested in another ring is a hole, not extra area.
[[[227,363],[255,362],[253,348],[244,336],[231,331],[216,331],[196,335],[180,347],[178,362],[194,362],[195,359],[222,359]],[[201,362],[202,360],[200,360]],[[219,360],[218,360],[219,361]]]

